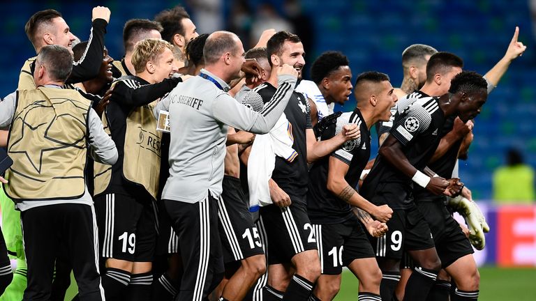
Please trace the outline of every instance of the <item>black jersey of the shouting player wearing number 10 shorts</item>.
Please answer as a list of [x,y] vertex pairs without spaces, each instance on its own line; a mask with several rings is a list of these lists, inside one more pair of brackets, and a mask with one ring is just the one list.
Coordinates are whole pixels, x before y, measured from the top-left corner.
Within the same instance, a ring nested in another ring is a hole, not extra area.
[[348,185],[357,187],[359,176],[371,156],[371,134],[368,132],[361,111],[356,108],[353,112],[343,113],[336,119],[336,123],[332,123],[322,132],[320,139],[331,139],[341,132],[344,125],[350,123],[359,126],[361,136],[347,141],[331,156],[322,157],[309,171],[307,213],[313,224],[339,224],[353,217],[350,204],[327,190],[327,174],[329,157],[336,157],[349,165],[344,177]]

